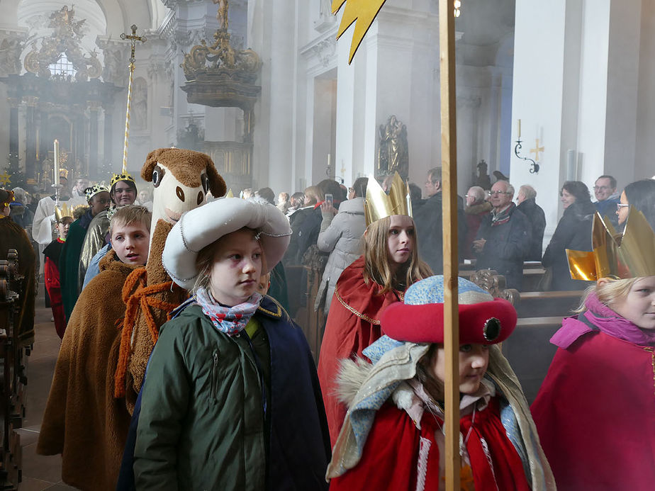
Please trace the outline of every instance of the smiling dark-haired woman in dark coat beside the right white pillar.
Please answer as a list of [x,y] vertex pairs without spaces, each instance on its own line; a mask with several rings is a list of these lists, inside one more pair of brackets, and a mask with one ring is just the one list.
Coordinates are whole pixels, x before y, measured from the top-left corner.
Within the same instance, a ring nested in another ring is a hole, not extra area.
[[566,249],[591,250],[591,222],[596,209],[581,181],[566,181],[560,195],[564,215],[544,252],[542,264],[552,268],[551,290],[583,290],[588,284],[571,279]]

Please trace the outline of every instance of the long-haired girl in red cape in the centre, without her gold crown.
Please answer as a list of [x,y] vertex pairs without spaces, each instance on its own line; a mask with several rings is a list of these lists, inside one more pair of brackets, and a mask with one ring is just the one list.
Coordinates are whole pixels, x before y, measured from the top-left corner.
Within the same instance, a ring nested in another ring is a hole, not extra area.
[[318,378],[332,445],[346,414],[345,405],[335,394],[340,360],[362,356],[362,350],[382,335],[381,312],[402,301],[408,286],[430,274],[430,267],[418,258],[410,216],[386,216],[366,228],[364,255],[337,281],[320,346]]

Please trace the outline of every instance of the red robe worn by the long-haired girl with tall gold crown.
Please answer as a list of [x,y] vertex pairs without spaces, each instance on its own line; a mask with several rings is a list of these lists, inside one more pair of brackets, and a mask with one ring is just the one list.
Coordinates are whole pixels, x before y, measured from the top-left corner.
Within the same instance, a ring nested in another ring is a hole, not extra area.
[[318,379],[332,446],[337,441],[347,410],[335,395],[340,360],[351,356],[365,358],[362,350],[382,336],[381,312],[403,298],[403,293],[395,290],[380,295],[381,290],[382,287],[374,281],[369,281],[368,285],[364,283],[362,256],[341,273],[332,296],[318,358]]

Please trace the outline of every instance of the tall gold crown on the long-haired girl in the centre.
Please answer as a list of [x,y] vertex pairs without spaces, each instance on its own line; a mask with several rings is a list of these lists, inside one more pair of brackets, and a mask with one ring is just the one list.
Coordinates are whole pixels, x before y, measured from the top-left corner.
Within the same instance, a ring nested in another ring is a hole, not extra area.
[[391,215],[412,216],[412,201],[410,200],[408,184],[405,184],[401,176],[396,172],[393,174],[387,196],[378,181],[373,176],[369,176],[369,184],[366,185],[366,199],[364,200],[366,227],[381,218],[390,217]]

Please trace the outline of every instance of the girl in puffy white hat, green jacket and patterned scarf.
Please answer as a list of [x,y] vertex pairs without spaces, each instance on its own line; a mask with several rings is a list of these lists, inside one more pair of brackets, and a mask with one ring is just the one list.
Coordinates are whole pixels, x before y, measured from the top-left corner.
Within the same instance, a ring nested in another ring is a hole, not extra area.
[[137,489],[319,490],[330,456],[312,356],[301,329],[257,293],[289,244],[263,201],[191,210],[162,263],[194,295],[159,333],[142,388]]

